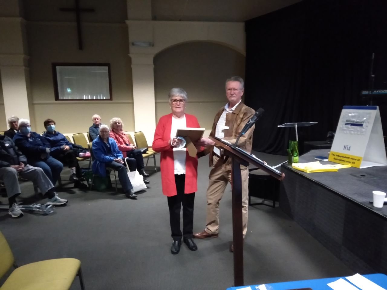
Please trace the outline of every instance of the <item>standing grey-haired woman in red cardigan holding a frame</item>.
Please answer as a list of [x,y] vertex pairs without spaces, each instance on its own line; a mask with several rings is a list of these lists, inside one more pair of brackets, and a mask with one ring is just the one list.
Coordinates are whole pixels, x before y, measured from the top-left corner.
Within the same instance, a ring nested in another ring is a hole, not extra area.
[[[191,251],[197,246],[192,241],[194,227],[194,200],[197,191],[197,157],[190,157],[186,148],[180,147],[176,131],[180,128],[200,128],[193,115],[184,113],[187,93],[180,88],[173,88],[169,93],[172,113],[162,116],[154,132],[152,149],[161,152],[161,184],[163,194],[167,196],[170,212],[171,236],[173,243],[171,253],[178,254],[181,239]],[[180,209],[183,204],[183,232],[180,230]]]

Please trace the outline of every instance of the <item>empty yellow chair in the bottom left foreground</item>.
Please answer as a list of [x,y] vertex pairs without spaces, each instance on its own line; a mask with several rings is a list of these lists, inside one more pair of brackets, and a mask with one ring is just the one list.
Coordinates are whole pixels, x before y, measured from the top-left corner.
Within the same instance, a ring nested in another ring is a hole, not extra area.
[[75,276],[79,276],[80,288],[84,290],[80,261],[74,258],[51,259],[26,264],[18,267],[15,258],[4,235],[0,232],[0,278],[7,273],[12,266],[12,271],[5,280],[1,290],[41,290],[70,289]]

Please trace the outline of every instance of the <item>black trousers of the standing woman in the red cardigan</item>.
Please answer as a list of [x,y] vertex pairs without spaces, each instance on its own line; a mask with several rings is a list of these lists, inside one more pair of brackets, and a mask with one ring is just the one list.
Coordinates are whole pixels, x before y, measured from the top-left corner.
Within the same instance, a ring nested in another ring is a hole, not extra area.
[[[194,201],[195,193],[184,193],[185,174],[175,175],[177,195],[168,196],[170,210],[171,236],[173,241],[180,241],[182,237],[192,239],[194,229]],[[180,209],[183,204],[183,233],[180,230]]]

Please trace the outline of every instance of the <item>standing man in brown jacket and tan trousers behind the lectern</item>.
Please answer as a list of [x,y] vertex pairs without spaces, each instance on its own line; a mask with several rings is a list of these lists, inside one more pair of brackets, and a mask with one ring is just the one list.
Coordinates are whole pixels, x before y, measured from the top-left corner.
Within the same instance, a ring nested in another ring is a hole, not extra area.
[[[244,82],[240,77],[231,77],[226,80],[226,96],[228,103],[222,107],[215,116],[210,136],[228,140],[234,144],[236,138],[254,115],[254,110],[241,101],[244,92]],[[252,148],[252,136],[255,126],[252,126],[238,141],[238,147],[250,153]],[[198,145],[205,146],[201,156],[210,154],[209,185],[207,188],[207,218],[205,229],[197,234],[195,238],[204,239],[217,237],[219,233],[219,201],[222,199],[224,190],[231,183],[231,159],[224,162],[222,152],[214,147],[212,140],[202,138]],[[199,154],[198,154],[199,155]],[[199,156],[200,157],[200,156]],[[241,165],[242,177],[242,217],[243,238],[247,232],[248,215],[248,168]],[[233,248],[231,248],[233,250]]]

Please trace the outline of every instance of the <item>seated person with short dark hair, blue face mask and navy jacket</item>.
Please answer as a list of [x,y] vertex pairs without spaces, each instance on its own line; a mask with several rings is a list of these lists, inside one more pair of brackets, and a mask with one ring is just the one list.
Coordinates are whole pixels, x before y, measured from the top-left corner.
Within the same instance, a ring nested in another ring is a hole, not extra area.
[[62,133],[55,131],[56,123],[53,119],[46,119],[43,124],[47,130],[43,133],[43,137],[50,144],[50,155],[68,165],[70,169],[70,178],[68,180],[74,182],[74,185],[78,188],[87,188],[87,185],[80,181],[82,174],[77,160],[77,152],[72,150],[72,144],[67,141]]

